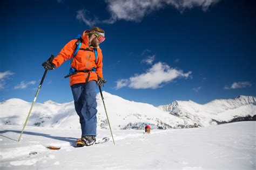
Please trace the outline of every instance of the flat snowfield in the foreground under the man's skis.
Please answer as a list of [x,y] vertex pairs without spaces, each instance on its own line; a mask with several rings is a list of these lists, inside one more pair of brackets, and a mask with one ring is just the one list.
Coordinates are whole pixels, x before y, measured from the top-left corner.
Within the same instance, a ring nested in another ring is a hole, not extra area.
[[[75,148],[80,129],[1,125],[1,169],[255,169],[256,122],[205,128],[98,130],[110,141]],[[46,146],[60,146],[49,150]]]

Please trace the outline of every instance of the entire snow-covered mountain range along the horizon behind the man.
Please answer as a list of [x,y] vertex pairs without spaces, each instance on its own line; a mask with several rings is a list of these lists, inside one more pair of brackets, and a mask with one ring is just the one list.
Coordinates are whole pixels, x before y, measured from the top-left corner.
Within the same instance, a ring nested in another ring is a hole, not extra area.
[[[143,129],[145,124],[150,124],[153,129],[192,128],[230,122],[235,118],[255,119],[256,117],[256,98],[252,96],[239,96],[233,100],[214,100],[203,105],[193,101],[174,101],[169,105],[154,107],[147,103],[124,100],[105,91],[103,95],[113,129]],[[107,129],[105,110],[99,94],[97,103],[98,129]],[[17,98],[1,102],[0,124],[23,125],[30,107],[30,102]],[[80,128],[73,102],[35,103],[28,125]]]

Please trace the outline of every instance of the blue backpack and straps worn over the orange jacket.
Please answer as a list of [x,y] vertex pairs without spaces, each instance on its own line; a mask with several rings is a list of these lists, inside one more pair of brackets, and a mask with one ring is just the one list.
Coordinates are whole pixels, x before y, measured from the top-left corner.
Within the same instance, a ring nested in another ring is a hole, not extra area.
[[[73,61],[73,59],[75,58],[77,52],[79,50],[84,50],[84,51],[92,51],[91,49],[89,48],[81,48],[81,45],[82,45],[82,38],[81,38],[81,35],[78,34],[78,36],[76,37],[77,41],[76,41],[76,49],[75,49],[75,52],[72,56],[72,58],[70,59],[70,68],[69,68],[69,74],[65,76],[65,78],[67,77],[70,77],[71,75],[74,75],[74,74],[77,74],[79,72],[84,72],[84,73],[89,73],[88,76],[87,76],[87,79],[89,79],[90,77],[90,72],[96,72],[96,68],[92,68],[91,70],[76,70],[75,68],[71,67],[71,63]],[[97,52],[97,48],[93,48],[93,52],[95,53],[95,63],[97,62],[97,58],[98,58],[98,52]],[[87,82],[87,81],[86,81]]]

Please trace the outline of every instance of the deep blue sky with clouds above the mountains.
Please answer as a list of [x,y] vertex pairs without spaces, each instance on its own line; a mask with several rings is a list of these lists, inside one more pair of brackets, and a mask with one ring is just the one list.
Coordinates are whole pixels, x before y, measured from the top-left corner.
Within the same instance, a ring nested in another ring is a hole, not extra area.
[[[103,90],[113,95],[153,105],[256,96],[254,1],[0,3],[0,101],[32,102],[42,62],[92,26],[106,32]],[[48,72],[37,102],[73,100],[68,69]]]

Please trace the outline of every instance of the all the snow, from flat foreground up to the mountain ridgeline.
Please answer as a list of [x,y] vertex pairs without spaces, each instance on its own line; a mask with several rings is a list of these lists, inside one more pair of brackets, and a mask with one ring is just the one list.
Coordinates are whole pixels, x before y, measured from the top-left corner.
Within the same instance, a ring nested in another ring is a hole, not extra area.
[[[31,103],[18,98],[1,102],[0,168],[256,169],[256,122],[216,125],[248,115],[255,119],[256,97],[206,104],[174,101],[154,107],[105,91],[103,95],[116,146],[99,94],[97,139],[109,137],[110,141],[82,148],[73,147],[81,133],[73,102],[35,103],[19,142]],[[132,130],[143,129],[145,124],[153,128],[151,134]],[[179,129],[197,126],[204,128]]]

